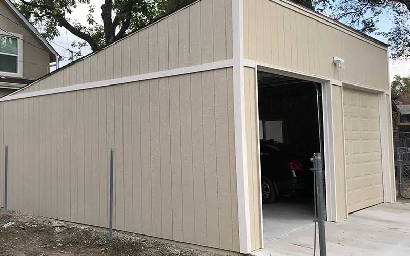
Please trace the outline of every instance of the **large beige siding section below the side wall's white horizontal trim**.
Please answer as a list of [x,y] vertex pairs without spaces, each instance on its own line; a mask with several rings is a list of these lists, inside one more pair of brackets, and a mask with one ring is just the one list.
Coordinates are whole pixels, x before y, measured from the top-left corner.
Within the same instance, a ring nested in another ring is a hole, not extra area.
[[232,68],[2,102],[0,118],[11,209],[107,227],[113,147],[116,229],[239,250]]

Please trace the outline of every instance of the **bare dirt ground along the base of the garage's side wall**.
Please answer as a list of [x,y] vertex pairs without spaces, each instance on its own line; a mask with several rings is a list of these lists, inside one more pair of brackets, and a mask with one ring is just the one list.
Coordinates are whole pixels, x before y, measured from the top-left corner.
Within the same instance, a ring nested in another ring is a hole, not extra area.
[[[15,224],[4,227],[5,224],[13,222]],[[61,256],[67,254],[216,256],[213,253],[123,232],[114,232],[114,238],[110,240],[106,229],[30,216],[17,211],[9,211],[6,216],[3,215],[3,211],[0,213],[0,255]]]

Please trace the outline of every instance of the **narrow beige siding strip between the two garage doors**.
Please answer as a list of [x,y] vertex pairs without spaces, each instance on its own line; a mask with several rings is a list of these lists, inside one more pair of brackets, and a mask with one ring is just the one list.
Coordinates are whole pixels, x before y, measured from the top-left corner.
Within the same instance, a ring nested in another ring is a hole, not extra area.
[[346,169],[344,167],[343,103],[342,88],[340,86],[332,86],[332,115],[336,168],[336,218],[337,221],[343,221],[347,218],[347,205]]

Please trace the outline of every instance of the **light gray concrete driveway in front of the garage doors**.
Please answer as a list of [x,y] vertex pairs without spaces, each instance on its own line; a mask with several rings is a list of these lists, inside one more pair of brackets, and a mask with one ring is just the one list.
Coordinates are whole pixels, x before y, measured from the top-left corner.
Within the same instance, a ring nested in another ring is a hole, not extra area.
[[[265,249],[255,255],[313,255],[313,233],[313,224],[301,227],[265,241]],[[344,222],[326,222],[326,242],[330,256],[410,255],[410,204],[379,204]]]

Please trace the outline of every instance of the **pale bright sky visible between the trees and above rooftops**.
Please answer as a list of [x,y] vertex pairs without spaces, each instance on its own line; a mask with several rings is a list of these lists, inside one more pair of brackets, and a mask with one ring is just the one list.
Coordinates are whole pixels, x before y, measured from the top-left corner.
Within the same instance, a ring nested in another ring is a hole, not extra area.
[[[104,3],[104,0],[91,0],[91,3],[95,5],[95,14],[94,17],[96,20],[101,20],[101,9],[100,6]],[[88,13],[88,7],[86,5],[78,5],[76,10],[73,12],[74,14],[72,15],[71,18],[76,18],[79,22],[85,24],[86,20],[86,15]],[[74,17],[75,15],[75,17]],[[102,20],[101,20],[102,23]],[[377,24],[378,27],[380,28],[380,32],[388,31],[389,28],[392,26],[392,23],[389,20],[389,15],[386,13],[384,16],[381,16],[379,23]],[[64,46],[66,48],[71,49],[71,42],[72,41],[82,41],[80,38],[74,36],[71,34],[67,29],[65,28],[60,28],[60,35],[56,38],[54,38],[54,42],[57,44]],[[376,33],[370,34],[370,36],[386,42],[386,39],[380,35],[376,35]],[[69,53],[66,49],[61,48],[57,45],[52,44],[52,46],[57,50],[57,52],[61,56],[69,56]],[[77,51],[77,49],[72,49],[73,51]],[[83,56],[89,54],[91,52],[91,48],[89,46],[81,48],[81,53]],[[69,63],[69,61],[61,61],[60,65],[66,65]],[[410,60],[397,60],[394,61],[392,59],[389,60],[389,67],[390,67],[390,80],[393,80],[393,77],[395,75],[401,75],[401,76],[408,76],[410,75]],[[54,68],[52,68],[54,69]]]

